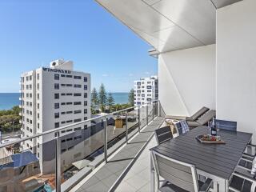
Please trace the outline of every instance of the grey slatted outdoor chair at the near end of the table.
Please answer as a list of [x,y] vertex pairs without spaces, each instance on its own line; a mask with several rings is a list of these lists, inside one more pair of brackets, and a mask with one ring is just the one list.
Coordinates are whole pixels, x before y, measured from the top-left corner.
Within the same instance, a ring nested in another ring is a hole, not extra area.
[[[212,179],[207,178],[206,182],[198,181],[198,175],[194,165],[177,161],[173,158],[152,151],[154,170],[157,174],[157,186],[161,192],[198,192],[208,191]],[[160,185],[159,177],[164,178]]]

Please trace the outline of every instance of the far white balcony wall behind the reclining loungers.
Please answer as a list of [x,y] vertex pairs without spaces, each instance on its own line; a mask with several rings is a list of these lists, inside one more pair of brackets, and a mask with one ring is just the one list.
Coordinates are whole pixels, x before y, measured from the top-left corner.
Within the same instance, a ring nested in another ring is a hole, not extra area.
[[215,109],[215,54],[215,45],[210,45],[159,55],[159,99],[166,114]]

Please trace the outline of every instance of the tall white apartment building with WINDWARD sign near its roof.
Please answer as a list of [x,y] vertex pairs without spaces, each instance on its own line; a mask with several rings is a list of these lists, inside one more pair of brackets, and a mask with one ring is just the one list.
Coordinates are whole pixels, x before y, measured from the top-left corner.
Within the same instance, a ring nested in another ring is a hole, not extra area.
[[[59,59],[50,62],[49,68],[23,73],[21,95],[22,138],[90,118],[90,74],[74,71],[71,61]],[[60,137],[82,130],[90,126],[88,124],[70,126],[59,133]],[[22,150],[30,149],[37,155],[44,173],[51,170],[53,164],[50,150],[54,147],[54,138],[54,134],[49,134],[22,143]],[[65,146],[62,145],[62,151],[74,148]],[[62,160],[65,164],[65,159]],[[74,159],[70,158],[70,161]]]

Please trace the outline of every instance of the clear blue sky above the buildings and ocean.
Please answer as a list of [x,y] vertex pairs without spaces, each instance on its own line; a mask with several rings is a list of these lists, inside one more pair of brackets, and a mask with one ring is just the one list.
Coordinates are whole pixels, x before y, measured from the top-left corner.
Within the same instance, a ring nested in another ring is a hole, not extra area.
[[64,58],[89,72],[92,86],[128,91],[157,74],[150,45],[94,0],[1,0],[0,92],[18,92],[19,76]]

